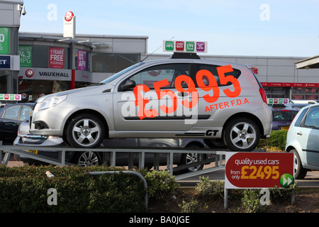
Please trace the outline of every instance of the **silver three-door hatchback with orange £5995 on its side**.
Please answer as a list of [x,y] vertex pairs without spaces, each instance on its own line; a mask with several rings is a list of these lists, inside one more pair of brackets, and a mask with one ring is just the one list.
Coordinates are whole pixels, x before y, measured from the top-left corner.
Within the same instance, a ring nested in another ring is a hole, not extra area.
[[30,132],[74,148],[104,138],[223,138],[230,150],[254,150],[272,129],[262,85],[246,65],[198,58],[139,62],[95,86],[40,97]]

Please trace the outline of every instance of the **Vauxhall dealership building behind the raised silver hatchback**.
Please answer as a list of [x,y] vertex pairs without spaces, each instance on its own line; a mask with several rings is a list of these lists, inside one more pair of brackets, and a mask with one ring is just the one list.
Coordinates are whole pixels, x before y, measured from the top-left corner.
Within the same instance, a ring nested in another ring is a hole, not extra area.
[[[0,94],[21,94],[21,101],[35,101],[45,94],[101,82],[145,57],[155,60],[172,55],[149,54],[146,35],[18,32],[22,10],[18,3],[0,1]],[[4,20],[10,13],[11,21]],[[1,42],[4,37],[9,43]],[[269,98],[319,99],[319,69],[296,67],[307,56],[198,55],[249,65]],[[2,62],[8,59],[10,65],[4,67]]]

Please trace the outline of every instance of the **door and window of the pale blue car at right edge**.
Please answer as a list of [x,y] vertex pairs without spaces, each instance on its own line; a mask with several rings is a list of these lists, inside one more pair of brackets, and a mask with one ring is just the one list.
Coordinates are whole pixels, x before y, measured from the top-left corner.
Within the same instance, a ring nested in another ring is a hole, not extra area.
[[319,106],[310,107],[297,131],[297,140],[308,165],[319,166]]

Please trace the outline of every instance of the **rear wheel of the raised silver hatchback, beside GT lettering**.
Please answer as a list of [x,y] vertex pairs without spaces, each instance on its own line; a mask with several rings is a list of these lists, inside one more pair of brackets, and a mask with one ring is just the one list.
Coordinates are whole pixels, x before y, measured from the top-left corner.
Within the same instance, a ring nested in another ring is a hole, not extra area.
[[224,140],[230,150],[252,151],[259,143],[259,128],[248,118],[235,118],[225,128]]

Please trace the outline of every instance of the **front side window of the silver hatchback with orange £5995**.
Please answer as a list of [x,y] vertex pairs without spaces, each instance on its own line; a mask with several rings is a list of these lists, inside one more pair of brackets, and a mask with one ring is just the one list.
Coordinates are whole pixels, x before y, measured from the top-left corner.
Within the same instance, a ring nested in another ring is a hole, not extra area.
[[167,79],[168,84],[163,88],[172,88],[176,77],[182,74],[189,76],[189,67],[190,64],[186,63],[156,65],[134,74],[130,79],[134,80],[136,85],[145,84],[150,89],[154,89],[155,82]]

